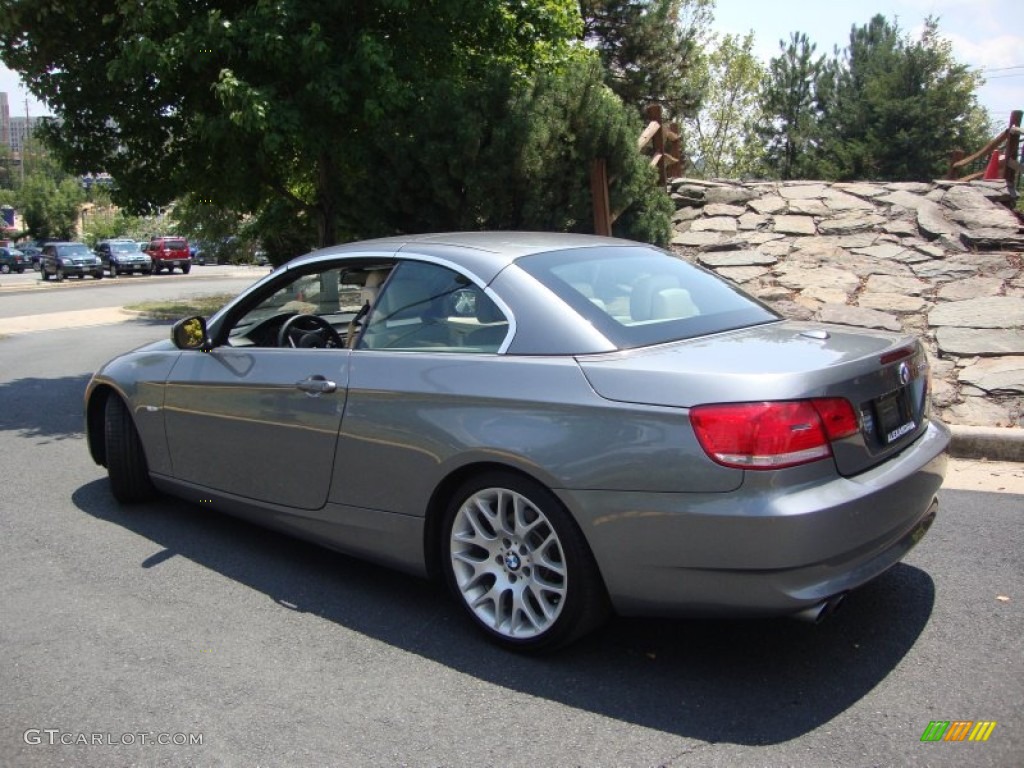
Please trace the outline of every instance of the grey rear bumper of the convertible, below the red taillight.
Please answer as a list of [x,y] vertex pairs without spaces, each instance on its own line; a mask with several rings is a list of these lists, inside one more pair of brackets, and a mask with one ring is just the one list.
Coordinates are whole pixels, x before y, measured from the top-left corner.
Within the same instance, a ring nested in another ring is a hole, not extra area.
[[794,613],[869,582],[921,540],[948,443],[948,430],[932,422],[898,456],[852,478],[819,462],[746,472],[728,494],[559,495],[620,613]]

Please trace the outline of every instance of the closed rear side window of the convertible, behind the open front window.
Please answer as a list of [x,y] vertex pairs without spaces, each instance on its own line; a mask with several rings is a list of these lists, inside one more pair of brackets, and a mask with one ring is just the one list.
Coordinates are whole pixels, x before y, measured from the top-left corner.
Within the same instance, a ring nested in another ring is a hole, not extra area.
[[406,261],[391,273],[359,337],[359,349],[497,352],[508,318],[469,278]]

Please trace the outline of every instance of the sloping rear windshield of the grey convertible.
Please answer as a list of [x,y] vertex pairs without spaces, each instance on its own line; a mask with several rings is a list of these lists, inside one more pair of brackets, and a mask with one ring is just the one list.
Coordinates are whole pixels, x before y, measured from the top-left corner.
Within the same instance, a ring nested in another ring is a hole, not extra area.
[[779,319],[738,288],[649,246],[554,251],[516,264],[621,349]]

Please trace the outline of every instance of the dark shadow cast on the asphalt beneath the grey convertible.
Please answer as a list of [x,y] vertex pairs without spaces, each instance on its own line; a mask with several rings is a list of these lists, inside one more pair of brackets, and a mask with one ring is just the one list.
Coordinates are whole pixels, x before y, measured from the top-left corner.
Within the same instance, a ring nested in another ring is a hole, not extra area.
[[135,578],[186,557],[285,608],[482,681],[709,742],[778,743],[827,723],[896,668],[935,601],[931,578],[900,564],[817,627],[620,618],[558,653],[527,657],[492,646],[437,585],[172,499],[125,510],[105,480],[73,500],[164,548],[124,563]]

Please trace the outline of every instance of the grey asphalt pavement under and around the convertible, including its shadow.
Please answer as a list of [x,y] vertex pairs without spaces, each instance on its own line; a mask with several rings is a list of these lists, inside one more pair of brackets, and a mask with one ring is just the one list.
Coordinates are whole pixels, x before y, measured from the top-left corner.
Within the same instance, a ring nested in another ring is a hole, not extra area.
[[[165,334],[0,340],[0,765],[1024,763],[1024,497],[944,490],[820,627],[618,621],[523,658],[429,584],[197,505],[120,509],[82,390]],[[998,725],[923,743],[933,720]]]

